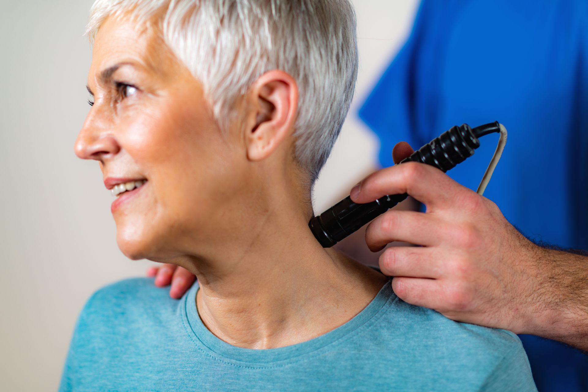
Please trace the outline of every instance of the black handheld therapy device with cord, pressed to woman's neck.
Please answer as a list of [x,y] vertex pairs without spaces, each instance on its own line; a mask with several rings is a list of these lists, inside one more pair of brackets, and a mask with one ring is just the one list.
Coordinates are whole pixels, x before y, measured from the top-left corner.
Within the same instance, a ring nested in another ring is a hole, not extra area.
[[[504,136],[503,142],[506,142],[506,129],[498,122],[481,125],[473,129],[469,125],[463,124],[449,129],[439,138],[432,140],[432,142],[415,151],[400,163],[421,162],[447,172],[447,170],[453,169],[453,167],[472,156],[474,150],[480,146],[479,138],[489,133],[501,133],[500,140],[502,141]],[[504,148],[503,144],[502,148]],[[502,153],[501,143],[499,143],[495,158],[499,159],[500,153]],[[490,165],[492,166],[492,163]],[[494,166],[496,166],[496,162],[494,162]],[[485,177],[489,172],[491,176],[492,170],[489,167]],[[478,193],[480,193],[480,190]],[[375,219],[375,217],[402,202],[407,196],[406,193],[403,195],[386,195],[374,202],[365,204],[354,203],[351,197],[348,196],[319,216],[310,219],[308,226],[323,247],[332,247],[349,236],[349,234],[359,230],[370,220]]]

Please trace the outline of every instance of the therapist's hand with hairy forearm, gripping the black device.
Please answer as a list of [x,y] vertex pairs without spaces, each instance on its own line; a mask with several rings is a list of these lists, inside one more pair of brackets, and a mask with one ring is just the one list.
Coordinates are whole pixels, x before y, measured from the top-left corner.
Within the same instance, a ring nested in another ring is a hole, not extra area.
[[[411,152],[400,143],[395,162]],[[530,242],[495,203],[422,163],[379,170],[351,197],[367,203],[399,193],[424,203],[426,213],[389,210],[370,223],[366,242],[374,252],[393,241],[420,245],[380,256],[400,299],[452,320],[588,349],[587,258]]]

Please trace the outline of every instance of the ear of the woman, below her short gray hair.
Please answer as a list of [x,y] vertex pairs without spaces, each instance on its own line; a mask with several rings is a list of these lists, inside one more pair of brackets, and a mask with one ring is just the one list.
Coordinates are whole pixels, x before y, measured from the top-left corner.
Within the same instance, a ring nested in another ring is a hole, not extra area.
[[[249,160],[268,158],[294,130],[298,113],[298,85],[283,71],[264,73],[249,90],[255,125],[245,129]],[[253,122],[252,122],[253,123]]]

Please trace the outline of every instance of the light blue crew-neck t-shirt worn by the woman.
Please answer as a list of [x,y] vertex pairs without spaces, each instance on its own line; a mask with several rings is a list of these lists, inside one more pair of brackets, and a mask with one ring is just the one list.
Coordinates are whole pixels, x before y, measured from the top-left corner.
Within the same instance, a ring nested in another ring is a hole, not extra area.
[[293,346],[231,346],[153,279],[98,290],[78,319],[60,391],[536,391],[515,334],[456,323],[390,283],[352,320]]

